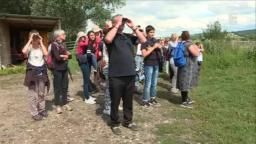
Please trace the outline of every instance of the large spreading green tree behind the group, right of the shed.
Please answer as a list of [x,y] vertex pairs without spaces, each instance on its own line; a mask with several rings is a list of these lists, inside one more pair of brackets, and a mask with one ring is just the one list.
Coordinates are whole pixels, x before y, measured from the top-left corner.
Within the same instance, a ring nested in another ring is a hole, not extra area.
[[[75,40],[79,31],[85,31],[88,20],[105,27],[112,13],[125,5],[125,0],[31,0],[31,14],[59,16],[67,40]],[[91,29],[91,28],[89,28]]]

